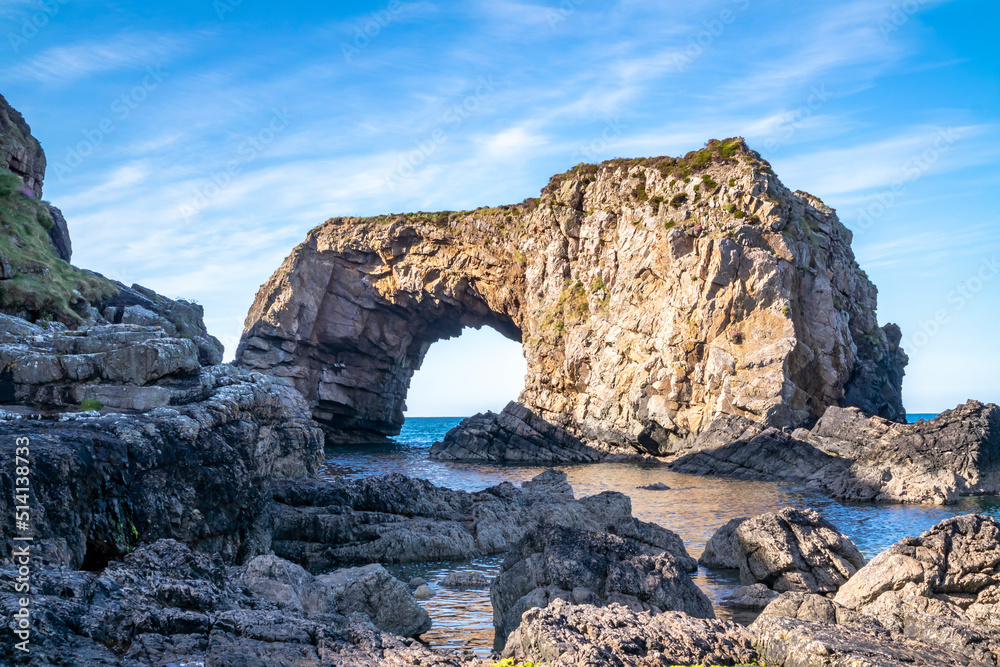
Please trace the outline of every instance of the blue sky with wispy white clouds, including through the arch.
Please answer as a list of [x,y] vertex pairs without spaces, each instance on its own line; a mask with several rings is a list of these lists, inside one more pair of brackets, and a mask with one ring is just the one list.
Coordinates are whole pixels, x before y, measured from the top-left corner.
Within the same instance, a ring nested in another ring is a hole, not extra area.
[[[904,330],[907,409],[1000,402],[994,1],[6,0],[0,92],[74,263],[204,304],[231,354],[333,215],[535,196],[741,135],[838,209]],[[481,368],[470,377],[468,369]],[[436,344],[411,415],[499,409],[519,346]]]

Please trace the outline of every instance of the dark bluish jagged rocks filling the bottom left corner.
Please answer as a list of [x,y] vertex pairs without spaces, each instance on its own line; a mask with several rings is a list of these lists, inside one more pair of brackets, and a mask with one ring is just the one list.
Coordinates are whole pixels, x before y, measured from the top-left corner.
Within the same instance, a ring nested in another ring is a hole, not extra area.
[[[9,568],[0,571],[5,577],[16,576]],[[351,610],[352,598],[296,572],[289,563],[271,560],[266,566],[255,562],[227,568],[218,555],[193,553],[172,540],[140,547],[120,562],[109,563],[100,575],[43,570],[34,574],[32,583],[30,653],[4,641],[0,661],[5,664],[478,664],[389,634],[380,620]],[[394,588],[380,578],[356,579],[354,585],[354,598],[370,602],[384,598],[387,586]],[[403,593],[409,596],[405,586]],[[289,595],[295,596],[294,602]],[[412,599],[410,604],[417,607]],[[17,595],[5,588],[0,608],[11,617],[20,609]]]

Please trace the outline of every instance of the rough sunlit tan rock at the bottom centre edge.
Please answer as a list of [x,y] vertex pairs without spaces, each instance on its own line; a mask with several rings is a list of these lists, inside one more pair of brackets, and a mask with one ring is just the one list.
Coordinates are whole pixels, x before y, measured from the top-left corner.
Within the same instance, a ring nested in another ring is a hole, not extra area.
[[503,656],[548,667],[740,665],[760,658],[751,640],[745,628],[726,621],[557,599],[524,614]]

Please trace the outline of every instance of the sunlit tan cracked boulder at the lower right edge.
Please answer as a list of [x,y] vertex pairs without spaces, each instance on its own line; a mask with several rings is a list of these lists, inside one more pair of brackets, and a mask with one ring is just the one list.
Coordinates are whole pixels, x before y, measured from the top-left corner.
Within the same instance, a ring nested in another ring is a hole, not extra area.
[[930,614],[1000,630],[1000,524],[963,515],[896,543],[837,593],[839,604],[896,632],[907,614]]

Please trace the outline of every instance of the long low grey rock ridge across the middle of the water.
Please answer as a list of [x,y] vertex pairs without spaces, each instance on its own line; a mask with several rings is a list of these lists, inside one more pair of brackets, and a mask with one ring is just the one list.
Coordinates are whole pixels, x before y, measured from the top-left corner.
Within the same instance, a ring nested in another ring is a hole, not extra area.
[[323,571],[356,563],[463,560],[504,553],[543,523],[607,531],[670,551],[698,568],[680,537],[632,516],[614,491],[574,500],[566,474],[550,470],[521,488],[504,482],[476,493],[393,473],[349,482],[276,485],[274,553]]

